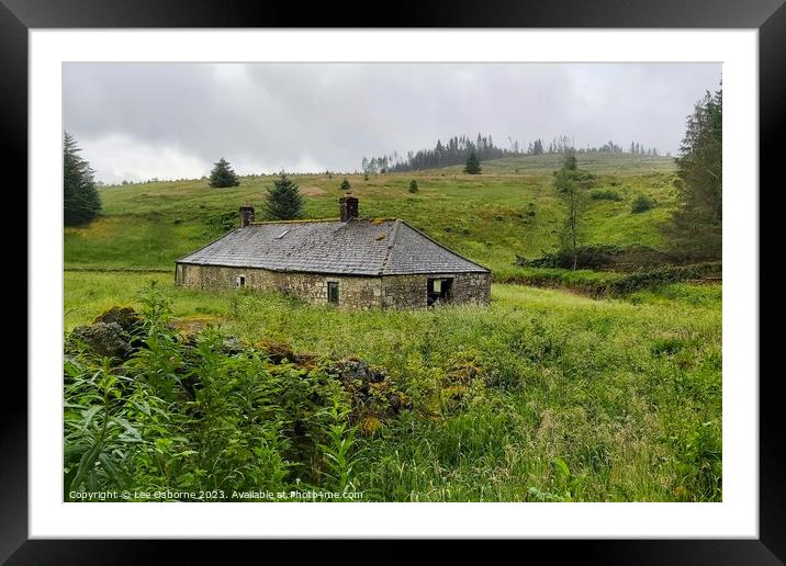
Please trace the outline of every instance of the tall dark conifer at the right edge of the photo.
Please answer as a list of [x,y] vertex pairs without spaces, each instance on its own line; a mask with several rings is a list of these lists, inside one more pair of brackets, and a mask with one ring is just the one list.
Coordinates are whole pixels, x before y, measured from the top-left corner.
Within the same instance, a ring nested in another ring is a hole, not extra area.
[[722,90],[696,103],[677,165],[678,208],[665,226],[672,248],[696,259],[722,254]]

